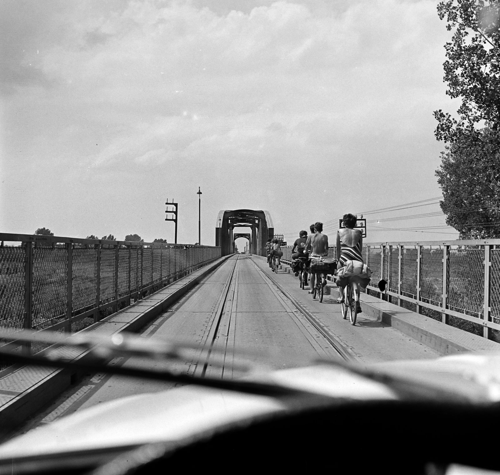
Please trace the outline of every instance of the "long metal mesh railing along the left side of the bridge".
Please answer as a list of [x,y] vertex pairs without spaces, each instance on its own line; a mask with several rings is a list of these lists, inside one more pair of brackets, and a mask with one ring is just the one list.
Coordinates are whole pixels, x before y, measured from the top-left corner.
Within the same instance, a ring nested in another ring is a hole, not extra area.
[[[220,257],[220,247],[0,233],[0,325],[71,331]],[[11,245],[5,245],[9,243]]]

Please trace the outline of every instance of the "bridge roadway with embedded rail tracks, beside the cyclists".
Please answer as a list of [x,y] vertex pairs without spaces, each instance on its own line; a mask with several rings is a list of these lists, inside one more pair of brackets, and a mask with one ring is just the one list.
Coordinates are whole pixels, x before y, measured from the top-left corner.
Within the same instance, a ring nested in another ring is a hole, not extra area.
[[[288,296],[274,285],[273,280],[279,282]],[[359,314],[356,326],[350,325],[348,320],[342,319],[340,305],[333,295],[324,295],[322,303],[312,300],[306,290],[299,288],[296,277],[286,272],[273,274],[265,259],[257,256],[230,257],[156,317],[142,330],[142,335],[184,340],[194,343],[200,350],[212,342],[225,348],[222,366],[211,365],[210,361],[206,365],[206,375],[215,377],[232,378],[240,374],[232,364],[234,351],[247,350],[250,360],[261,363],[264,359],[269,368],[305,365],[317,358],[342,359],[331,341],[297,309],[293,300],[339,342],[344,355],[351,359],[377,362],[439,355],[363,313]],[[205,362],[199,358],[199,351],[192,350],[185,361],[179,363],[178,369],[201,374]],[[136,365],[141,361],[130,358],[117,359],[114,363]],[[152,366],[155,364],[161,363]],[[21,431],[100,402],[173,386],[166,382],[89,374]]]

